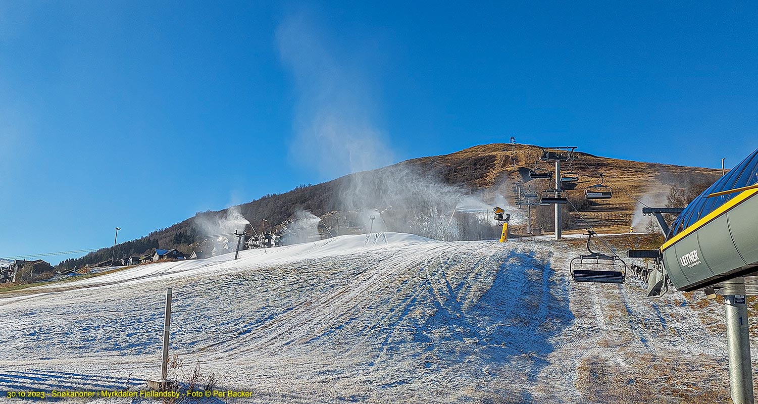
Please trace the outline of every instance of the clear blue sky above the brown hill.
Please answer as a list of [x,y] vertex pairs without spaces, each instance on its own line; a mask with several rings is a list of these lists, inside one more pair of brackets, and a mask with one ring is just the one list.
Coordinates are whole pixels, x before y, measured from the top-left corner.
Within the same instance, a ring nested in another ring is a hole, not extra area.
[[0,0],[0,257],[509,136],[758,147],[750,2],[443,3]]

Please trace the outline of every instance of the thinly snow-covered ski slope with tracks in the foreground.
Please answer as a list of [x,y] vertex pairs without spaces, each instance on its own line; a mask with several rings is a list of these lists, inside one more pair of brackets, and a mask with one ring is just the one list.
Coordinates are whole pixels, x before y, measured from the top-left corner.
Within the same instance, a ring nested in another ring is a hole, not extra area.
[[0,293],[0,390],[144,388],[173,287],[174,376],[252,402],[727,402],[720,305],[572,283],[576,252],[375,233]]

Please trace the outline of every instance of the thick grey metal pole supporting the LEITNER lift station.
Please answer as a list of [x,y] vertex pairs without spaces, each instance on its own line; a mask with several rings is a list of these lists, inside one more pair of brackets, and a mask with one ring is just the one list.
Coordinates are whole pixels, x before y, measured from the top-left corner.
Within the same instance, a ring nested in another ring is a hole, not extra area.
[[729,386],[735,404],[753,404],[753,368],[744,295],[724,296],[726,346],[729,353]]

